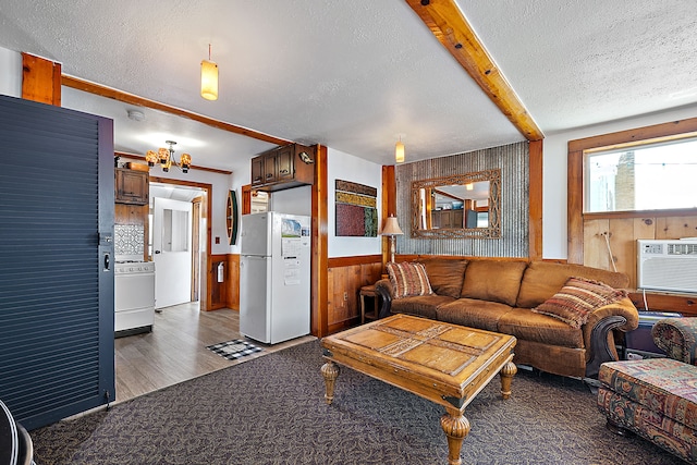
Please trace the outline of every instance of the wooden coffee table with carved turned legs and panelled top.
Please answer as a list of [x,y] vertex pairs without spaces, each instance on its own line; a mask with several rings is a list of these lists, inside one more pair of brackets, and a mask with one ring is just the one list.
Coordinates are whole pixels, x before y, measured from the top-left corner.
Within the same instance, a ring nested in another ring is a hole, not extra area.
[[448,437],[448,463],[461,464],[469,432],[465,407],[501,375],[501,394],[511,395],[517,372],[515,338],[490,331],[394,315],[321,340],[325,399],[334,399],[337,364],[344,365],[445,407],[440,425]]

